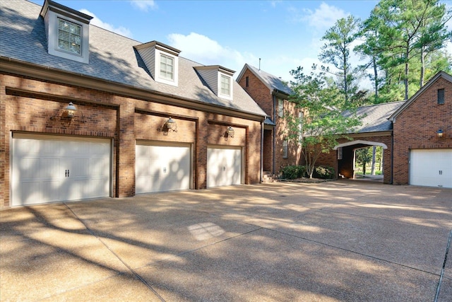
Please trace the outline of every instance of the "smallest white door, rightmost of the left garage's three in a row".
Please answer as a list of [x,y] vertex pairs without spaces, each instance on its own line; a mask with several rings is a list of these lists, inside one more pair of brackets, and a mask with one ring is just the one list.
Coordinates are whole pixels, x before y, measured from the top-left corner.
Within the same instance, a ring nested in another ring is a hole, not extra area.
[[207,149],[207,187],[242,183],[242,149]]

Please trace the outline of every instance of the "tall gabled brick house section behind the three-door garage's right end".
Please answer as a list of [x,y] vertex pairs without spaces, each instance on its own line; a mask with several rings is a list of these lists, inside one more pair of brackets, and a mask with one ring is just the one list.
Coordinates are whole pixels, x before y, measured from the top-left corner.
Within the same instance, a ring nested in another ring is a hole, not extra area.
[[263,170],[277,175],[283,166],[299,164],[300,146],[285,139],[285,115],[303,114],[288,101],[292,89],[277,76],[249,64],[244,65],[236,81],[268,115],[263,130]]

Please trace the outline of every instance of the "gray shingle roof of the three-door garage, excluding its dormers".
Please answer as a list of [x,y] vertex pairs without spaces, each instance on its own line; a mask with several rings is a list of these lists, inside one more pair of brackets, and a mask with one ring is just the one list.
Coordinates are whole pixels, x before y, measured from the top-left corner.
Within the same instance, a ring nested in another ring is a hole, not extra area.
[[191,99],[210,105],[218,105],[254,115],[266,113],[235,81],[233,100],[218,98],[194,70],[203,66],[179,57],[179,85],[169,86],[154,81],[148,74],[138,52],[133,46],[142,44],[90,25],[90,62],[82,64],[70,59],[55,57],[47,52],[44,21],[40,17],[41,6],[28,1],[0,1],[0,55],[1,57],[29,62],[52,69],[92,76],[113,83],[121,83]]

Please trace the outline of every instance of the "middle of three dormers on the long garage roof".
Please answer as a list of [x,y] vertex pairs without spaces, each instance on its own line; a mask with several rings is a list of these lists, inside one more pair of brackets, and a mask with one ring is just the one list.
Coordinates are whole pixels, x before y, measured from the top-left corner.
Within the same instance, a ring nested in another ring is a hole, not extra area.
[[133,48],[140,54],[154,81],[177,86],[180,50],[157,41]]

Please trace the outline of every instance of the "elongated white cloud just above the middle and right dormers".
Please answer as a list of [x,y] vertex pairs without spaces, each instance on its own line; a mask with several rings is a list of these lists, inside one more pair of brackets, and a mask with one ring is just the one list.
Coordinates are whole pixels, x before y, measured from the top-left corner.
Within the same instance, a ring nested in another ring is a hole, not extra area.
[[198,33],[189,35],[172,33],[167,38],[169,45],[182,51],[182,57],[203,65],[221,65],[237,71],[236,75],[245,63],[258,60],[254,54],[224,47],[210,37]]

